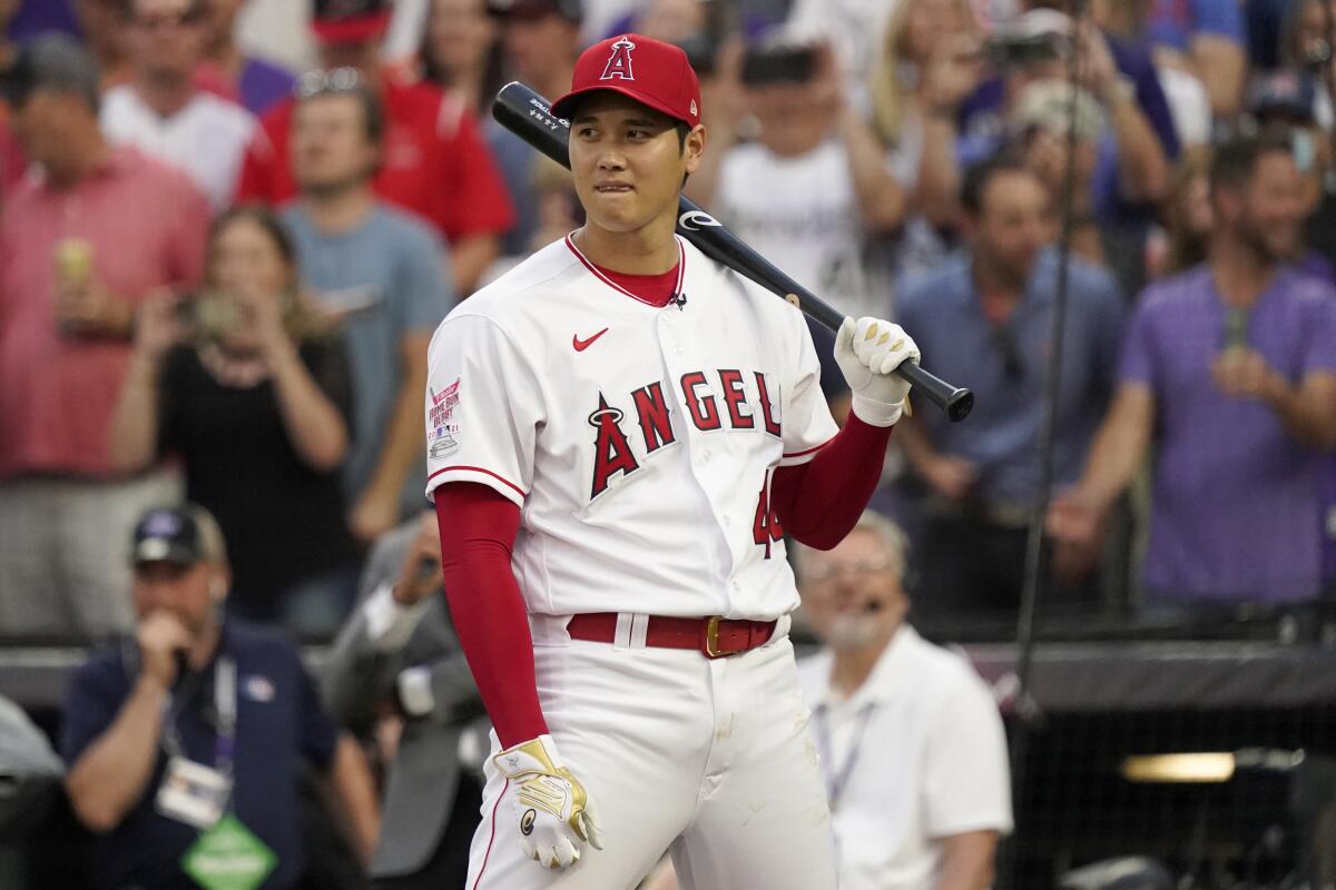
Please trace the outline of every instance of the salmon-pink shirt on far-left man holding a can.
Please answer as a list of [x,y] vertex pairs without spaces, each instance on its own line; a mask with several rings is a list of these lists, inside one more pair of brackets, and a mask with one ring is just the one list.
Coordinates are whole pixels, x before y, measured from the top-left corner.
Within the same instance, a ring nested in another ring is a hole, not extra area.
[[142,300],[194,287],[203,271],[210,209],[174,167],[135,148],[73,188],[19,183],[0,216],[0,479],[23,474],[106,476],[107,430],[130,344],[60,332],[55,256],[65,239],[92,247],[92,275]]

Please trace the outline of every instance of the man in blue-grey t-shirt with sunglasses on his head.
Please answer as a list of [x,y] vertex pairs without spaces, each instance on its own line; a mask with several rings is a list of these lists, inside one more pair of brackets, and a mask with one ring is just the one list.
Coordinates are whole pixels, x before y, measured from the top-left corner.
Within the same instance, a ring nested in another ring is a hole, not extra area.
[[375,93],[355,80],[335,77],[294,109],[302,192],[283,220],[318,300],[346,315],[353,444],[343,494],[353,534],[367,544],[422,504],[426,347],[452,304],[436,235],[373,191],[389,149]]

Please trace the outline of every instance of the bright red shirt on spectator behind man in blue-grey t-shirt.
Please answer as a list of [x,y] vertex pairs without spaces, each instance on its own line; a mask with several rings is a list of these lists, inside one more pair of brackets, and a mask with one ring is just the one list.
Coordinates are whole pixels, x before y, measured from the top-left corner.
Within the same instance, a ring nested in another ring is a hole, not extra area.
[[[505,183],[464,103],[430,84],[389,79],[381,101],[385,152],[374,183],[381,197],[424,216],[450,242],[500,235],[514,224]],[[282,204],[297,196],[287,147],[295,107],[287,99],[261,119],[242,164],[238,201]]]

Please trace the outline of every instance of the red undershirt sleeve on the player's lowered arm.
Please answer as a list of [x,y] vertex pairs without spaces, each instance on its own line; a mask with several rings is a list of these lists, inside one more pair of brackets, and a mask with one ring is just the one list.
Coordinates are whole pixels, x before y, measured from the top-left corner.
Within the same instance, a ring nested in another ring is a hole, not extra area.
[[533,677],[533,636],[510,551],[520,507],[474,482],[436,490],[441,575],[450,619],[501,747],[546,734]]

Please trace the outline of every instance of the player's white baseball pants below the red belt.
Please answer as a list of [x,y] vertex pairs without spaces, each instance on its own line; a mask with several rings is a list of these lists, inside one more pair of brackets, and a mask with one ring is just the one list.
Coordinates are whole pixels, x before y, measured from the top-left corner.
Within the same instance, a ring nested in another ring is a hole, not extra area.
[[560,871],[526,859],[513,790],[489,758],[468,890],[633,890],[664,851],[681,890],[835,889],[787,635],[715,660],[566,638],[537,642],[534,662],[548,729],[595,799],[605,849],[585,845]]

